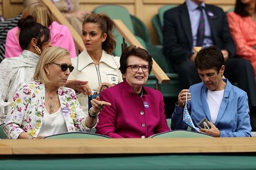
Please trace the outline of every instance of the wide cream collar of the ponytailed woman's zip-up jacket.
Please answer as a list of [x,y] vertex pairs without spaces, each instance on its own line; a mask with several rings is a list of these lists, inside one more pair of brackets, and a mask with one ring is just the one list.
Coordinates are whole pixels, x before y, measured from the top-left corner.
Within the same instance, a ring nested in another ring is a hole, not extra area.
[[[87,50],[84,50],[81,54],[77,57],[77,69],[79,71],[86,68],[89,64],[95,64],[90,55],[88,54]],[[104,50],[102,50],[102,56],[100,58],[99,64],[105,63],[106,65],[118,69],[118,64],[114,60],[114,56],[106,53]]]

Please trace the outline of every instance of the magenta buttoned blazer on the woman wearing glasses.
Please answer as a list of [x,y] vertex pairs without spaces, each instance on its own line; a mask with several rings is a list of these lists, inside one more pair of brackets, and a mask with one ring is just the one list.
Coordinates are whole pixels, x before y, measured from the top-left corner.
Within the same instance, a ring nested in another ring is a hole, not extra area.
[[110,102],[99,114],[96,133],[112,138],[145,138],[169,131],[161,92],[143,86],[140,98],[124,80],[100,94]]

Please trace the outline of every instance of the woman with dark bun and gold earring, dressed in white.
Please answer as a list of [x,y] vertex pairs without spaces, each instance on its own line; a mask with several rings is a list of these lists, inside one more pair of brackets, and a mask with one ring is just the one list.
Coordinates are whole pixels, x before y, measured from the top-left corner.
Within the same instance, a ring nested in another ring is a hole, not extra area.
[[18,57],[6,58],[0,64],[0,124],[4,123],[8,106],[20,83],[32,81],[40,54],[51,46],[50,31],[33,20],[32,16],[18,21]]

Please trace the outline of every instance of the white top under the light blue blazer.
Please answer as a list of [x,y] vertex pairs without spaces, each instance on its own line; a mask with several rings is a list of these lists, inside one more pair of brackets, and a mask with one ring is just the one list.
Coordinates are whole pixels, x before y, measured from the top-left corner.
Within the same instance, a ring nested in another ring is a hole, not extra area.
[[224,89],[220,91],[207,91],[207,103],[209,106],[209,111],[210,111],[210,117],[211,117],[211,122],[215,123],[219,109],[221,106],[221,101],[223,99],[224,95]]

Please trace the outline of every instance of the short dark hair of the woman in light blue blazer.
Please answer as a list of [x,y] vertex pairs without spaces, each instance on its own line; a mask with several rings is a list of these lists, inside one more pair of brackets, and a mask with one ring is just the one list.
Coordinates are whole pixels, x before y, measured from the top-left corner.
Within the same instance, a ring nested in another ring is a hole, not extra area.
[[214,68],[219,72],[221,66],[224,65],[224,57],[219,47],[207,46],[197,53],[195,64],[199,69]]

